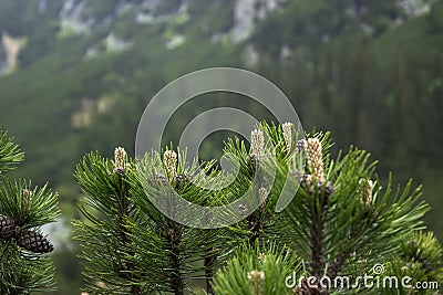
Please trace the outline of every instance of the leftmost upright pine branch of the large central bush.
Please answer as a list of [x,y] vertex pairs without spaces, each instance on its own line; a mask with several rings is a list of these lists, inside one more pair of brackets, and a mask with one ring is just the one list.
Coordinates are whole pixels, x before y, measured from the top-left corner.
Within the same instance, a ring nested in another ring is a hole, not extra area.
[[113,164],[90,154],[78,166],[75,177],[86,196],[80,210],[87,222],[74,222],[75,239],[81,242],[91,293],[135,295],[152,289],[151,284],[141,285],[144,270],[134,259],[133,173],[123,148],[115,149]]

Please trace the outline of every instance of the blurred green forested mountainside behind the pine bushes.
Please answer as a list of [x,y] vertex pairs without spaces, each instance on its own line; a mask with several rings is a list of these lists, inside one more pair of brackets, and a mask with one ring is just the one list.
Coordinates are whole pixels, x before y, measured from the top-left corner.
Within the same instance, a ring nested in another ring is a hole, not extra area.
[[[239,2],[0,0],[0,32],[21,43],[17,67],[0,77],[0,125],[27,156],[17,176],[50,181],[63,214],[76,217],[72,172],[85,152],[110,156],[124,146],[133,154],[156,92],[195,70],[235,66],[280,87],[305,130],[332,131],[336,151],[368,149],[382,179],[393,171],[398,182],[423,183],[432,206],[426,225],[442,241],[443,2],[256,0],[257,11],[278,8],[257,13],[250,33],[236,40]],[[86,29],[62,25],[63,11],[76,15],[70,3],[83,3],[75,21]],[[142,9],[146,20],[135,21]],[[112,49],[110,34],[126,46]],[[174,116],[171,139],[222,105],[271,118],[253,101],[204,95]],[[203,145],[205,157],[220,155],[226,134],[217,136]],[[60,294],[78,294],[70,293],[80,284],[75,246],[64,247],[54,254]]]

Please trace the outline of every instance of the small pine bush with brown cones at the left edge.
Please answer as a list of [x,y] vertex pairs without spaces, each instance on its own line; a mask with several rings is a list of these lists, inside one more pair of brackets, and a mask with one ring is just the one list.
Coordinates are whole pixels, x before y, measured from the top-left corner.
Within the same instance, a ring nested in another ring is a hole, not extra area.
[[54,291],[53,245],[40,228],[59,217],[58,194],[12,179],[24,155],[0,129],[0,294]]

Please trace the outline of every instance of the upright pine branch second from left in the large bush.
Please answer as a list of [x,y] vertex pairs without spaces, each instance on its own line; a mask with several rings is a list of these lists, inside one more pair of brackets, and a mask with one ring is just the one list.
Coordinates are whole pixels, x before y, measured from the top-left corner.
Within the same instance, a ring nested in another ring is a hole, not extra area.
[[[132,175],[132,200],[138,217],[131,219],[134,229],[132,249],[137,253],[142,268],[147,270],[146,277],[155,284],[156,291],[183,294],[185,278],[193,277],[193,274],[204,271],[208,282],[212,280],[217,253],[222,251],[217,246],[222,239],[216,235],[217,230],[192,229],[174,221],[176,214],[183,212],[177,211],[179,208],[174,203],[173,193],[198,204],[217,203],[218,200],[214,200],[216,197],[210,196],[210,190],[198,186],[207,178],[207,170],[198,172],[205,175],[203,178],[196,173],[197,167],[186,168],[182,164],[181,154],[166,155],[167,160],[158,154],[146,155],[138,162],[136,173]],[[167,210],[172,219],[165,217],[158,206]],[[206,265],[193,264],[205,257]]]

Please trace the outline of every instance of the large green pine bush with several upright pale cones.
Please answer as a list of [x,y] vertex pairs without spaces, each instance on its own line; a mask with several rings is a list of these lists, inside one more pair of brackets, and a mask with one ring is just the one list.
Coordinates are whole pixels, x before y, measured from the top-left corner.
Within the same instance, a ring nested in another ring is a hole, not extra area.
[[[186,162],[185,152],[172,147],[140,159],[123,148],[114,159],[86,155],[75,172],[84,219],[74,221],[84,291],[437,294],[435,287],[412,288],[416,282],[441,282],[443,274],[441,245],[423,231],[429,207],[420,187],[412,181],[394,187],[392,176],[382,186],[365,150],[350,147],[332,156],[329,133],[302,135],[289,123],[262,123],[250,139],[250,148],[238,138],[226,141],[234,177],[216,161]],[[198,229],[174,218],[182,208],[173,191],[205,207],[244,193],[250,193],[250,203],[238,206],[245,218],[235,224]],[[281,206],[288,191],[293,196]],[[373,286],[342,281],[364,275],[372,275]],[[374,287],[375,280],[390,276],[410,276],[411,287]]]

